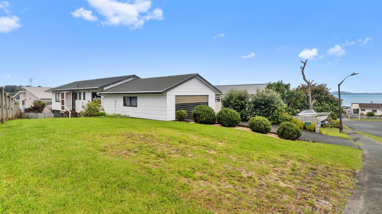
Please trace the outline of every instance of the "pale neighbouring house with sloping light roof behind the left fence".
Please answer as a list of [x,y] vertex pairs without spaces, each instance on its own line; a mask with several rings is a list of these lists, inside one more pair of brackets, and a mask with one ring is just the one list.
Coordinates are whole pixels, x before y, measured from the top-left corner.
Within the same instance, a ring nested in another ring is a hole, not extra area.
[[[52,106],[52,93],[45,92],[51,87],[24,87],[25,91],[18,91],[13,98],[16,102],[19,102],[21,111],[23,112],[25,108],[28,108],[36,100],[41,100],[47,103],[47,107]],[[43,113],[52,113],[48,108],[44,109]]]

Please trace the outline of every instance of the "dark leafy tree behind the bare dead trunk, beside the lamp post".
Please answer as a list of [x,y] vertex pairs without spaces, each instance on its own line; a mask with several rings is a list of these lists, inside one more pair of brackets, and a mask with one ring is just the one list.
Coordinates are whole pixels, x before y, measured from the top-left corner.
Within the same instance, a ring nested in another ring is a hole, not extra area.
[[[305,99],[301,102],[299,109],[308,109],[308,86],[301,84],[297,89],[304,92]],[[313,102],[313,109],[316,112],[330,112],[330,116],[333,119],[339,117],[338,113],[338,98],[330,94],[330,88],[327,87],[327,84],[311,84],[310,91]]]

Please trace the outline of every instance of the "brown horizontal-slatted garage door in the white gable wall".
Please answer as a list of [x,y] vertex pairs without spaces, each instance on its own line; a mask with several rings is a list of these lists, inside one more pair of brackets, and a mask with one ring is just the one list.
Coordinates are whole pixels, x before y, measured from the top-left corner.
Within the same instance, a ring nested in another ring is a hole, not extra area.
[[175,96],[175,111],[185,110],[186,119],[191,119],[192,110],[198,105],[208,105],[208,95]]

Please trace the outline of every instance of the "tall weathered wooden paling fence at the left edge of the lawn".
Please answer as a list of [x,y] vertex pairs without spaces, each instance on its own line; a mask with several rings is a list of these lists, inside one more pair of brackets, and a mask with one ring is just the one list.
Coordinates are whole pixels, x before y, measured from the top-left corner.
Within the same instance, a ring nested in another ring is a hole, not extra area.
[[11,94],[4,92],[3,86],[0,86],[0,123],[20,118],[20,115],[19,104]]

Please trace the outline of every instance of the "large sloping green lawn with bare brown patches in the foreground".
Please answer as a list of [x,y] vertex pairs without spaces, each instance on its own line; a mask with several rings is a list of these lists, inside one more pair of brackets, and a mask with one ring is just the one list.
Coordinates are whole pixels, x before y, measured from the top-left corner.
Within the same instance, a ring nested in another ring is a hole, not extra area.
[[0,213],[339,213],[361,151],[183,122],[50,118],[0,125],[0,163]]

